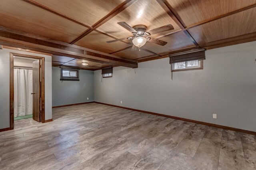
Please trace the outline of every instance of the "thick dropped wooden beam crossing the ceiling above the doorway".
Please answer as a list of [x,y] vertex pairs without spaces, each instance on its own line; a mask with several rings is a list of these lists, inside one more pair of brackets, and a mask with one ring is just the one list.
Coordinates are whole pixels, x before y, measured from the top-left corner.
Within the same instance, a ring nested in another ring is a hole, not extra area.
[[[86,59],[99,63],[106,63],[111,65],[120,65],[125,67],[138,67],[136,61],[122,59],[121,57],[113,57],[113,55],[104,55],[104,53],[97,53],[97,51],[86,51],[81,48],[70,47],[64,45],[63,42],[56,43],[37,38],[28,37],[25,35],[16,34],[13,32],[6,32],[0,28],[0,44],[10,47],[17,47],[22,49],[30,49],[44,53],[51,53],[53,55],[63,55],[78,59]],[[77,46],[78,47],[78,46]]]

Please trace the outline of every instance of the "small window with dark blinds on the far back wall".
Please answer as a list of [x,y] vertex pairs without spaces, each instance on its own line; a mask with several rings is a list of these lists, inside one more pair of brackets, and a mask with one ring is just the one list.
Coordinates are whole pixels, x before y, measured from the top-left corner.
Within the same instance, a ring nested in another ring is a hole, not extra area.
[[60,69],[61,81],[79,81],[79,70],[76,69]]

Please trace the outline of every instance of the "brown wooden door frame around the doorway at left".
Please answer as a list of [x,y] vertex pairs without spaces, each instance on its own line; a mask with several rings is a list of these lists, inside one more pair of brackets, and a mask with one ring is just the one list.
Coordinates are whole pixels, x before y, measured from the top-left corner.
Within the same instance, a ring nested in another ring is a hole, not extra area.
[[10,52],[10,130],[14,129],[14,56],[41,59],[41,120],[45,123],[44,57]]

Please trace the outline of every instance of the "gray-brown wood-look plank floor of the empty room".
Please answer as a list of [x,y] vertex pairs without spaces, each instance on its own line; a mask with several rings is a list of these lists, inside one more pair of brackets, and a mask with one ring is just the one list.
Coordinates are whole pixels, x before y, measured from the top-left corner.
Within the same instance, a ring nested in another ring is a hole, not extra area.
[[53,118],[0,132],[0,169],[256,169],[253,135],[96,103]]

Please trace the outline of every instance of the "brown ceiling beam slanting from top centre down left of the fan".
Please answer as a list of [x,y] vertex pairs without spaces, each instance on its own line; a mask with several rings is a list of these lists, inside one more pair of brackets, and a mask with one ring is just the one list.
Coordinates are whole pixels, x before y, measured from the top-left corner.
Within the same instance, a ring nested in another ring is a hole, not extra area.
[[107,22],[108,20],[110,20],[111,18],[113,18],[114,16],[116,16],[117,14],[119,14],[120,12],[125,10],[126,8],[128,8],[130,5],[134,4],[134,2],[136,2],[136,1],[138,1],[138,0],[126,0],[126,1],[124,1],[122,4],[117,6],[114,10],[112,10],[108,15],[104,16],[104,18],[102,18],[101,20],[96,22],[94,25],[92,25],[92,29],[88,29],[85,32],[83,32],[78,38],[73,40],[70,44],[74,44],[74,43],[78,42],[84,36],[90,34],[94,30],[96,30],[98,27],[102,26],[102,24],[104,24],[105,22]]

